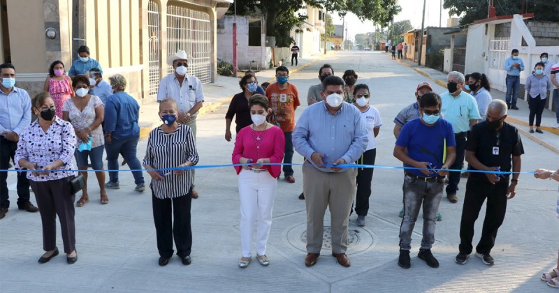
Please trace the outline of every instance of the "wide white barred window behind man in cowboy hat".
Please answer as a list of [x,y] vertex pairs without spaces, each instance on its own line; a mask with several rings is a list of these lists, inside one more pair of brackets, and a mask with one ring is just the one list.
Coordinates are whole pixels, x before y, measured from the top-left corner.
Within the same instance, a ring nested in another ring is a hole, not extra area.
[[[202,83],[211,82],[212,47],[210,15],[203,11],[174,4],[167,6],[167,52],[175,54],[179,50],[187,52],[188,73]],[[173,66],[167,73],[173,73]]]

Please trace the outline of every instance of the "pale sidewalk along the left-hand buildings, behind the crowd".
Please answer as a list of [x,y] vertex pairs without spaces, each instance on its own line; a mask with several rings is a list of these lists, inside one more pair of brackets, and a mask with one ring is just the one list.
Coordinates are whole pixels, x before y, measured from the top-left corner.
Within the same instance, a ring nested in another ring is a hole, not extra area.
[[[333,54],[332,51],[328,51],[326,55],[315,54],[309,58],[299,59],[298,66],[286,66],[289,69],[289,73],[296,73],[312,63],[319,61],[325,56]],[[270,68],[266,70],[260,70],[256,72],[256,77],[259,80],[259,84],[263,82],[274,82],[275,81],[275,68]],[[204,84],[204,105],[201,108],[198,117],[203,116],[209,112],[216,110],[222,105],[229,103],[231,98],[237,93],[240,93],[239,88],[239,78],[238,77],[227,77],[222,75],[217,75],[215,78],[215,83]],[[140,119],[138,124],[140,125],[140,140],[147,139],[150,135],[150,131],[159,126],[161,121],[159,119],[159,104],[157,102],[145,103],[140,105]]]

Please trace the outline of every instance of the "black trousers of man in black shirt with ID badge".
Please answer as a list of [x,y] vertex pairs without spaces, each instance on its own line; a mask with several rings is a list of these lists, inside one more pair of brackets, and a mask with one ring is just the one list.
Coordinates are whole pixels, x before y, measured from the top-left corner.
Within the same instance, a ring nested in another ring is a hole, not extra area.
[[484,219],[484,227],[481,230],[481,239],[477,244],[476,251],[481,254],[491,253],[495,246],[497,231],[504,220],[507,211],[507,189],[509,178],[501,179],[495,185],[488,181],[470,177],[466,183],[466,195],[462,208],[462,220],[460,220],[460,253],[469,255],[472,253],[472,239],[474,238],[474,224],[481,206],[487,199],[487,209]]

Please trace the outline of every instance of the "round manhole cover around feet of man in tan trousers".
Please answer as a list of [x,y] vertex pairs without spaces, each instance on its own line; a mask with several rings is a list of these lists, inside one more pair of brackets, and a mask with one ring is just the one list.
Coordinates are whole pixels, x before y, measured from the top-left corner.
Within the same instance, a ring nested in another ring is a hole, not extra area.
[[[287,232],[287,241],[291,246],[307,252],[307,224],[299,224],[289,228]],[[349,225],[347,232],[347,255],[361,253],[372,248],[374,245],[372,233],[361,227]],[[324,226],[324,234],[322,236],[321,255],[331,255],[332,253],[332,237],[331,227]]]

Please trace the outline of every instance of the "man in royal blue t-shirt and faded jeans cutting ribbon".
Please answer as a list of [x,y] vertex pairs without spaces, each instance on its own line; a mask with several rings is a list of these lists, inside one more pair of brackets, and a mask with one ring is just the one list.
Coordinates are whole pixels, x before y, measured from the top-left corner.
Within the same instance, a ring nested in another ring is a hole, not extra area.
[[[404,219],[400,225],[400,257],[398,266],[409,269],[412,232],[423,206],[423,239],[417,255],[428,266],[437,268],[439,262],[431,253],[435,243],[435,223],[442,198],[444,176],[456,157],[456,142],[451,123],[440,119],[441,98],[436,93],[425,93],[419,98],[421,117],[405,123],[396,145],[394,156],[405,167]],[[447,158],[444,161],[446,147]],[[440,169],[434,171],[433,169]]]

